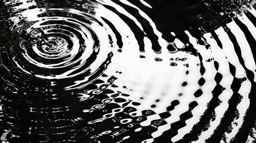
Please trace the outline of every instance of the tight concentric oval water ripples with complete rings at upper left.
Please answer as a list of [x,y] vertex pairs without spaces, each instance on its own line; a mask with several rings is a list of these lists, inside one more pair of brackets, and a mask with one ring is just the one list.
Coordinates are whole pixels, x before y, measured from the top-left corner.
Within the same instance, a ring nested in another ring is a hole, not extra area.
[[[20,35],[12,41],[18,43],[12,62],[19,70],[42,80],[66,80],[70,86],[65,89],[86,86],[102,74],[112,57],[109,36],[99,33],[104,27],[91,15],[76,12],[42,8],[24,11],[29,14],[26,20],[10,17],[14,19],[11,29]],[[37,15],[29,19],[30,13]]]

